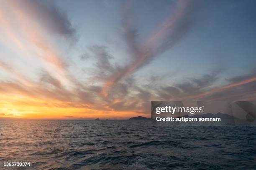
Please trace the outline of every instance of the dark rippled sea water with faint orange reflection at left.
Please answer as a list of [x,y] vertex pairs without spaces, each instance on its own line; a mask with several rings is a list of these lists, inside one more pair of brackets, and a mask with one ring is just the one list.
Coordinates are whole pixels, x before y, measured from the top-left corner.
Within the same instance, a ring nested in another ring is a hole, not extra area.
[[0,163],[3,170],[256,170],[256,127],[0,120]]

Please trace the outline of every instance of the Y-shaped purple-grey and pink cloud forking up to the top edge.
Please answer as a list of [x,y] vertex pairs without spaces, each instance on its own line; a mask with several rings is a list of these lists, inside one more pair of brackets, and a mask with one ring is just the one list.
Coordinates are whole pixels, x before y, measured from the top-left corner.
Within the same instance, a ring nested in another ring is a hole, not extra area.
[[177,10],[167,18],[161,27],[146,42],[137,42],[137,30],[129,10],[123,15],[123,37],[128,45],[130,60],[126,65],[115,69],[108,76],[105,86],[111,87],[116,82],[131,75],[133,72],[149,63],[154,57],[169,50],[186,35],[195,21],[198,4],[192,1],[177,1]]

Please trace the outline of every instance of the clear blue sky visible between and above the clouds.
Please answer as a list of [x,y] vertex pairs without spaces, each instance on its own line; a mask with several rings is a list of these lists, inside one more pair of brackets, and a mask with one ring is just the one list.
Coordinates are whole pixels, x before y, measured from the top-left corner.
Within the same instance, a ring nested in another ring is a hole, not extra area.
[[[131,3],[129,12],[134,17],[137,41],[143,42],[166,17],[175,13],[173,6],[178,2],[81,1],[79,6],[68,1],[56,2],[67,11],[71,23],[77,26],[79,40],[72,51],[78,56],[72,57],[77,65],[84,67],[84,63],[79,61],[79,55],[95,44],[108,46],[114,57],[113,62],[122,64],[127,60],[129,56],[121,35],[121,6],[125,3]],[[182,79],[184,76],[202,75],[216,69],[224,69],[222,74],[226,78],[234,73],[248,72],[254,68],[256,60],[253,5],[253,1],[200,2],[200,7],[195,11],[195,20],[182,40],[134,74],[150,76],[154,73],[161,75],[177,72],[175,77]]]

